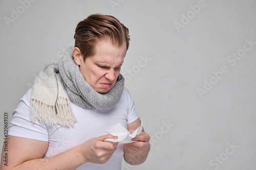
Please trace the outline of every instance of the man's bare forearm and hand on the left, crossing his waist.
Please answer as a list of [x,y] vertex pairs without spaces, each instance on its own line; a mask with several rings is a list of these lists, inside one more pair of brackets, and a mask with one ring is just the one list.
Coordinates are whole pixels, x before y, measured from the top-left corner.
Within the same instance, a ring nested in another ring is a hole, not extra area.
[[104,135],[89,139],[76,147],[49,158],[43,158],[48,142],[8,136],[8,166],[4,165],[4,147],[2,152],[1,170],[18,169],[76,169],[86,162],[105,163],[114,151],[118,142],[104,142],[106,138],[117,138]]

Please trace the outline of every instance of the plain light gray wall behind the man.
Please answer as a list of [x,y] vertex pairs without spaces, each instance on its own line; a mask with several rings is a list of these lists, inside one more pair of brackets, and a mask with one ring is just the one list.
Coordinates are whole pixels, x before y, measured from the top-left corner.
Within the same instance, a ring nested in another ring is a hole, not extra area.
[[123,169],[255,169],[255,6],[252,0],[0,1],[0,140],[4,112],[10,122],[39,67],[74,43],[80,20],[102,13],[130,30],[121,72],[152,136],[147,161]]

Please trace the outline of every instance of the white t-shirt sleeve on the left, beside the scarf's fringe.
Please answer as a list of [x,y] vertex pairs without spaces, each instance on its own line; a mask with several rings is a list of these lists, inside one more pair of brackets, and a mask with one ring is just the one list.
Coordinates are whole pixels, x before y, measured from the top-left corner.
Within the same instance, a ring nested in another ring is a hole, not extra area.
[[13,111],[8,135],[25,137],[35,140],[49,141],[49,134],[44,123],[36,120],[34,123],[29,117],[29,101],[31,89],[19,100],[17,108]]

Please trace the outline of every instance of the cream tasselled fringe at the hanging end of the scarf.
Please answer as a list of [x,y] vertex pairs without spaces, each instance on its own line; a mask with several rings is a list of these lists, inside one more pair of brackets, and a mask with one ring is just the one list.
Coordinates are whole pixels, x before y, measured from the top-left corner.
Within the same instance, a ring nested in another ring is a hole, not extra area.
[[37,118],[40,123],[46,123],[46,120],[48,120],[50,126],[58,124],[66,127],[74,127],[74,123],[77,122],[69,99],[61,96],[58,96],[57,99],[57,114],[54,105],[47,105],[36,99],[30,99],[30,107],[30,119],[32,122],[35,122]]

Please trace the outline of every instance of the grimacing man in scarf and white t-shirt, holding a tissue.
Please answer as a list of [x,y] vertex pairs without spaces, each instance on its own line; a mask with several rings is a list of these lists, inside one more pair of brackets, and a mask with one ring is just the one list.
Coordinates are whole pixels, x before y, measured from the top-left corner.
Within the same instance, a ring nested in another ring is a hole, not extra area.
[[150,136],[135,142],[105,130],[120,123],[133,132],[141,125],[119,74],[129,32],[116,18],[90,15],[79,22],[75,47],[59,63],[43,66],[33,88],[20,99],[8,134],[8,166],[1,169],[121,169],[121,160],[143,163]]

